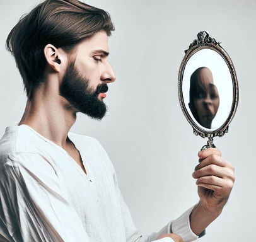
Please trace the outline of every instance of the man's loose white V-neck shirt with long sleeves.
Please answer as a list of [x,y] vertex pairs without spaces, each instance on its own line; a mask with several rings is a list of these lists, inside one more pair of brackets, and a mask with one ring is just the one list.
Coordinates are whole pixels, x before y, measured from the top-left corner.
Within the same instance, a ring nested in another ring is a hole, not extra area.
[[158,233],[139,234],[103,147],[91,137],[68,136],[86,174],[27,125],[6,129],[0,141],[0,241],[146,242],[161,233],[197,239],[189,226],[193,208]]

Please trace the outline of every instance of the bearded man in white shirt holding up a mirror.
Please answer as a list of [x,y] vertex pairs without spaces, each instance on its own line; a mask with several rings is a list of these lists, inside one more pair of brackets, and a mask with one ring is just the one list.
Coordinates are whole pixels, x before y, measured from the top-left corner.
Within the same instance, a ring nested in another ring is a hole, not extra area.
[[199,153],[200,201],[158,233],[141,235],[112,163],[90,137],[71,134],[76,113],[101,119],[115,74],[107,61],[110,16],[77,0],[47,0],[9,33],[28,96],[0,141],[1,241],[193,241],[221,214],[233,166]]

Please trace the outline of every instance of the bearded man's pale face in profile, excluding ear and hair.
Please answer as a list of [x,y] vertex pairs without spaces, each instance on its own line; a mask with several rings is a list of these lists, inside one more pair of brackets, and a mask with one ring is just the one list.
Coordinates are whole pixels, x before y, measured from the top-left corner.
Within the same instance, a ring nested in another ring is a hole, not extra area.
[[76,58],[67,67],[60,94],[69,102],[68,110],[82,112],[91,118],[102,119],[107,112],[103,103],[107,83],[115,74],[107,62],[108,43],[105,32],[95,33],[76,47]]

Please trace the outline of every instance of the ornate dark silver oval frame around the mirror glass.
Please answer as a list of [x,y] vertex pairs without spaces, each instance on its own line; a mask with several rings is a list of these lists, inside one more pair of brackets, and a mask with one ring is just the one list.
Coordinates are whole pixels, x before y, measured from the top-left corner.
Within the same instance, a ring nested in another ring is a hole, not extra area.
[[[238,106],[238,82],[236,78],[235,67],[233,65],[233,62],[231,61],[230,56],[221,47],[220,43],[221,42],[216,42],[214,38],[211,38],[208,32],[206,31],[199,32],[197,34],[197,39],[195,39],[192,43],[190,43],[189,49],[185,50],[185,56],[183,57],[183,60],[180,64],[180,70],[178,72],[178,98],[180,101],[180,106],[182,108],[183,114],[185,115],[189,124],[192,126],[193,132],[195,135],[200,135],[203,138],[208,137],[208,139],[211,141],[213,137],[216,137],[216,136],[222,137],[224,134],[228,132],[229,124],[233,119],[236,112],[236,108]],[[189,61],[190,57],[192,57],[192,55],[194,55],[199,50],[204,50],[204,49],[214,50],[219,55],[221,55],[221,57],[223,57],[224,61],[228,66],[228,69],[230,70],[231,79],[233,83],[233,101],[231,105],[230,114],[228,115],[228,118],[226,119],[226,121],[221,125],[221,127],[218,127],[218,129],[215,129],[215,130],[202,129],[202,127],[199,127],[199,125],[195,124],[193,118],[190,117],[189,112],[185,107],[185,103],[183,99],[182,83],[183,83],[183,74],[184,74],[187,62]]]

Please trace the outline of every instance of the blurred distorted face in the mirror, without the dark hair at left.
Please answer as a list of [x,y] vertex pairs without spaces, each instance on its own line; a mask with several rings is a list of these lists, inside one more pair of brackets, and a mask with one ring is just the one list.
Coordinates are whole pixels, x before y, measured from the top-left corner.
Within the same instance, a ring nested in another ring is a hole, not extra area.
[[212,73],[209,69],[204,68],[199,73],[198,81],[204,86],[204,89],[198,90],[194,99],[195,109],[199,123],[211,129],[211,123],[219,108],[219,93],[213,84]]

